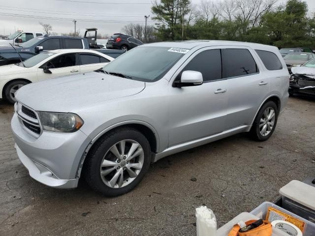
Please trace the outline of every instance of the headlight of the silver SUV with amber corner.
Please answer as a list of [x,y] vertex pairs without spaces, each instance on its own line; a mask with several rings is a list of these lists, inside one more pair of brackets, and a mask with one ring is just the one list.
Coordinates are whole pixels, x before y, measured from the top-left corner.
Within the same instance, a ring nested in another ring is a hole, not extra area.
[[44,130],[54,132],[75,132],[83,125],[83,120],[73,113],[38,112]]

